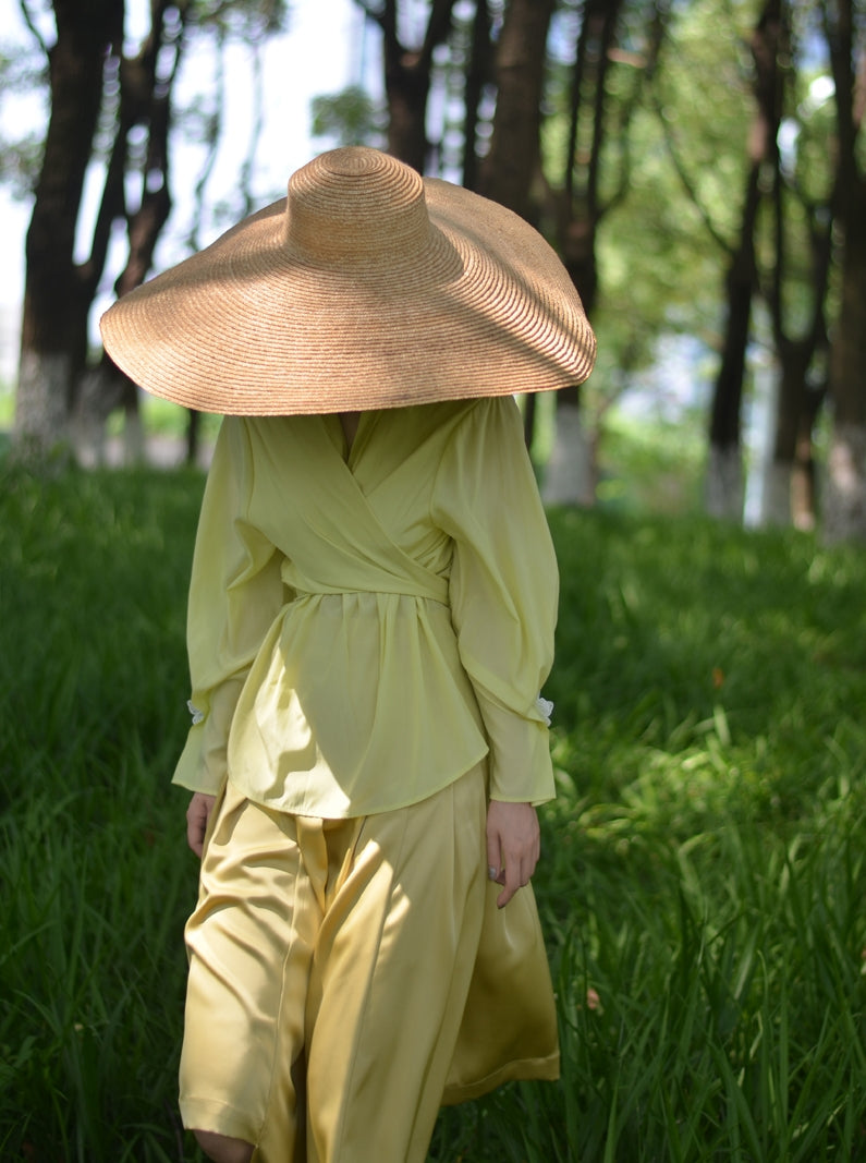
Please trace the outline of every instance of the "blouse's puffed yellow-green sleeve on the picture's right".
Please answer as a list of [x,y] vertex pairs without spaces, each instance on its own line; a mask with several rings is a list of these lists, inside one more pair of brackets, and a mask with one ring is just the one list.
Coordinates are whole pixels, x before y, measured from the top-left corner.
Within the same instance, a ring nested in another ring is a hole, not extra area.
[[432,518],[455,542],[452,622],[489,744],[491,797],[543,802],[554,786],[539,693],[559,577],[511,398],[479,401],[455,431]]

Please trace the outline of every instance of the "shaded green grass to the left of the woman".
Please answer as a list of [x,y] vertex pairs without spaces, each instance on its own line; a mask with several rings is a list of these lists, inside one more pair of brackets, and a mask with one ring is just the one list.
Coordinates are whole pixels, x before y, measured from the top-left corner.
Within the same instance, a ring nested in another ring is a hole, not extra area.
[[0,1158],[179,1158],[196,476],[2,479]]

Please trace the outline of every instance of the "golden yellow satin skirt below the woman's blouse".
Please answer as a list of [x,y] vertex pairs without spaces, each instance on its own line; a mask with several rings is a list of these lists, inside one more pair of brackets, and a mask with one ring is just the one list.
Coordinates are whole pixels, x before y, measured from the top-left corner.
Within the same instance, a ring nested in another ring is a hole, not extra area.
[[482,766],[349,820],[226,787],[186,927],[186,1127],[256,1163],[421,1163],[442,1103],[557,1077],[535,900],[495,907],[485,814]]

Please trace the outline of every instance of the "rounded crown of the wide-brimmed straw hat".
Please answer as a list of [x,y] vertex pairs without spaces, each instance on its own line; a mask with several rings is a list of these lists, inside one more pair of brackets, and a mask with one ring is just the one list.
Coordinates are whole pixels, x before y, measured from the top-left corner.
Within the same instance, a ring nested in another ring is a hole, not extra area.
[[378,150],[345,147],[292,176],[289,247],[313,262],[377,266],[410,258],[430,237],[421,174]]

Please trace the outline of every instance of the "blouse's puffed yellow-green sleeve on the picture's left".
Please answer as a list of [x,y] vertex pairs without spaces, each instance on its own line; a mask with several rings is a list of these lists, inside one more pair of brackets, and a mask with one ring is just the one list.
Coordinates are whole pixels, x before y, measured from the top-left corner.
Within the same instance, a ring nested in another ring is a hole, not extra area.
[[193,726],[173,783],[214,794],[241,688],[285,601],[282,557],[248,520],[252,459],[244,421],[227,418],[214,450],[195,537],[187,650]]

